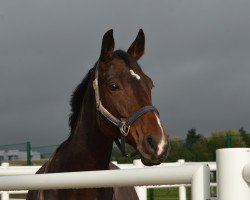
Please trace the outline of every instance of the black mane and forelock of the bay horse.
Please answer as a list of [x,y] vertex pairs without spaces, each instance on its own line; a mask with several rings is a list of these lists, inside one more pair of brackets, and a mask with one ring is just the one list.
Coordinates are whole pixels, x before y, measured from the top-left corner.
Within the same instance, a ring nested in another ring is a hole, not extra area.
[[[113,57],[118,57],[122,59],[127,66],[129,67],[131,66],[131,56],[127,52],[123,50],[116,50],[113,54]],[[69,126],[71,134],[74,132],[74,128],[77,122],[77,117],[81,111],[83,97],[86,93],[86,89],[88,87],[91,75],[94,73],[95,66],[89,70],[89,72],[83,78],[82,82],[76,87],[73,94],[71,95],[71,100],[70,100],[71,114],[69,116]]]

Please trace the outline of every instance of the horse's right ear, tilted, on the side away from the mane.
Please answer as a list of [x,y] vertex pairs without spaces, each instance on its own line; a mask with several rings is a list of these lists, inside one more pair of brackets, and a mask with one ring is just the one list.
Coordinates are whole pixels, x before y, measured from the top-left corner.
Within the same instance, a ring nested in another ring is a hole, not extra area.
[[142,29],[140,29],[138,35],[135,38],[135,41],[128,48],[127,53],[134,57],[136,60],[139,60],[144,53],[145,48],[145,35]]

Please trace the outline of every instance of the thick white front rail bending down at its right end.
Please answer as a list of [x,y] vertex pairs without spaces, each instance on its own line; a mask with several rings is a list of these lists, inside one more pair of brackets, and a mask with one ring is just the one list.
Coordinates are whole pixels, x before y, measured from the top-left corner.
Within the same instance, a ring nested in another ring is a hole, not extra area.
[[76,189],[166,184],[191,184],[193,200],[209,199],[209,168],[207,165],[195,164],[178,167],[2,176],[0,178],[1,190]]

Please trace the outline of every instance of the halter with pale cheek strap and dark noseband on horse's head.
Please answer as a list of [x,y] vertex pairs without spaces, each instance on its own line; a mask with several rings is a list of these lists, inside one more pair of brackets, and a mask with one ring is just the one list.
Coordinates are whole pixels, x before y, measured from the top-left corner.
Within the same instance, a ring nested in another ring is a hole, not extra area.
[[127,137],[129,130],[130,130],[130,126],[138,119],[140,118],[142,115],[144,115],[147,112],[157,112],[158,114],[158,110],[154,107],[154,106],[144,106],[141,109],[139,109],[138,111],[136,111],[130,118],[127,119],[127,121],[122,121],[120,119],[118,119],[117,117],[115,117],[114,115],[112,115],[103,105],[100,99],[100,92],[99,92],[99,86],[98,86],[98,69],[99,69],[99,62],[97,62],[96,64],[96,68],[95,68],[95,80],[93,81],[93,88],[95,90],[95,100],[96,100],[96,109],[97,111],[99,111],[107,120],[109,120],[111,123],[113,123],[115,126],[117,126],[121,132],[121,142],[119,141],[119,139],[115,139],[115,142],[118,146],[118,148],[120,149],[120,151],[122,152],[122,154],[124,156],[129,156],[126,152],[125,152],[125,137]]

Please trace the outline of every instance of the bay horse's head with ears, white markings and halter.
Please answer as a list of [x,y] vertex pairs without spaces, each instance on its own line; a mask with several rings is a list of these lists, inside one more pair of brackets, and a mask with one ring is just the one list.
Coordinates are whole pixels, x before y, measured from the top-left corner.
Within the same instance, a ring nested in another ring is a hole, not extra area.
[[103,36],[93,81],[100,129],[107,137],[126,137],[145,165],[160,164],[169,150],[168,135],[152,106],[153,81],[138,63],[144,54],[143,30],[127,52],[115,51],[114,46],[109,30]]

